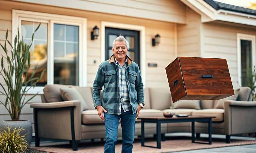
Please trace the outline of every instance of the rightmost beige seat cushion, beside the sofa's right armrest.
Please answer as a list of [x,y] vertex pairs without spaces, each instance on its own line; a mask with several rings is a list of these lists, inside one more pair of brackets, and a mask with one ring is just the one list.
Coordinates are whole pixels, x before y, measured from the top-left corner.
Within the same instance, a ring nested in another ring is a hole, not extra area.
[[192,116],[215,116],[212,118],[213,122],[222,122],[224,121],[224,109],[201,109],[195,110],[192,112]]

